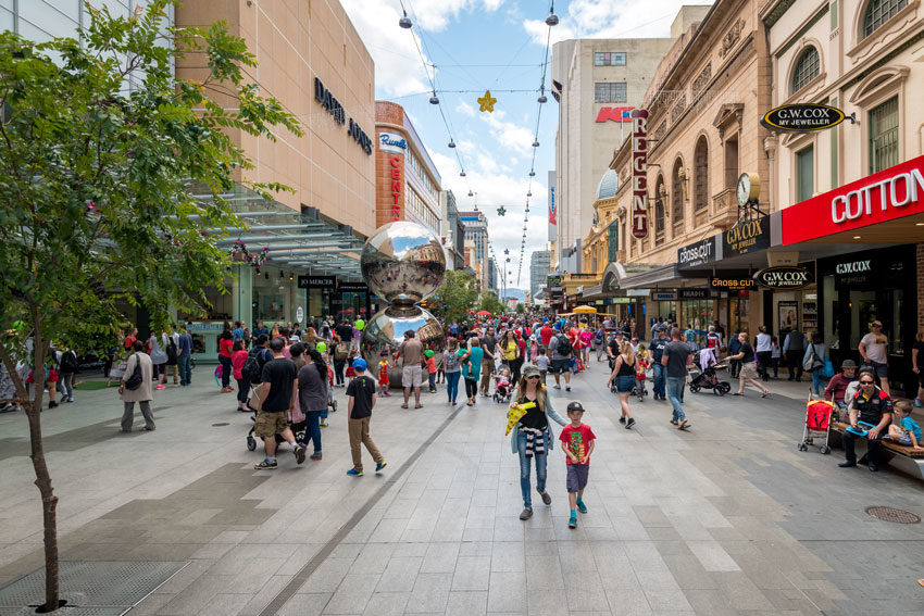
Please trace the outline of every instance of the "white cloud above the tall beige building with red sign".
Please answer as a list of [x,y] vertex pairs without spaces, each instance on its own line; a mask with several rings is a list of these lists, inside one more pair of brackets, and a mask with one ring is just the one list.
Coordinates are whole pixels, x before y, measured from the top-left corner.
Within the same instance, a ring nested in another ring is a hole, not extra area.
[[[649,38],[670,36],[671,22],[684,4],[711,4],[703,0],[646,0],[645,2],[600,2],[572,0],[559,25],[552,27],[552,43],[570,38]],[[524,20],[533,42],[546,45],[545,17]]]

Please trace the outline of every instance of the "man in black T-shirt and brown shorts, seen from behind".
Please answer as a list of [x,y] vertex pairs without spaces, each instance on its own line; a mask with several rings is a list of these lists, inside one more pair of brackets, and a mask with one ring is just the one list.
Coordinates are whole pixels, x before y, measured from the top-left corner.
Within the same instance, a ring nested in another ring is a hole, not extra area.
[[257,408],[257,424],[253,433],[263,439],[266,457],[253,468],[273,470],[276,464],[276,435],[280,435],[292,448],[296,463],[304,462],[304,445],[296,443],[296,437],[289,428],[287,415],[298,403],[298,372],[295,362],[283,355],[286,341],[274,338],[270,341],[273,359],[263,365],[261,376],[263,395]]

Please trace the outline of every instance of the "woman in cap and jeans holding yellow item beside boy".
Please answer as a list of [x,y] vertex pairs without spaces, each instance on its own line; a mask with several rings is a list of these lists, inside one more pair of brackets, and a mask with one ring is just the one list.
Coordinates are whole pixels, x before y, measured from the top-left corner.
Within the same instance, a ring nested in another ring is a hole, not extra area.
[[555,413],[546,388],[539,384],[539,368],[536,366],[526,366],[523,370],[523,378],[520,379],[511,408],[524,404],[529,407],[513,426],[510,445],[513,453],[520,455],[520,491],[523,494],[523,513],[520,514],[520,519],[526,520],[533,517],[530,461],[536,461],[536,491],[542,502],[550,505],[552,498],[546,491],[546,469],[548,452],[555,439],[549,427],[549,419],[559,426],[564,426],[566,422]]

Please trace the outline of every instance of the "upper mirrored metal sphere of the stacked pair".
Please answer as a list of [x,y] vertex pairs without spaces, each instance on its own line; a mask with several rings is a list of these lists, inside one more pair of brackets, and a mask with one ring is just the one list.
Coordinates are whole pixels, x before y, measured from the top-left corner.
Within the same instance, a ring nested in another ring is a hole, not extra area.
[[379,227],[366,240],[360,265],[375,294],[388,303],[413,304],[439,287],[446,273],[446,255],[426,227],[396,221]]

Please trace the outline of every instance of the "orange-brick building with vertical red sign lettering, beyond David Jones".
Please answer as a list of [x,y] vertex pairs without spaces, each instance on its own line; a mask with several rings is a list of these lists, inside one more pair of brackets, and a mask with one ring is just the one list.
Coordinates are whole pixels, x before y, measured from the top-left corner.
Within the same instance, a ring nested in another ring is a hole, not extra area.
[[440,177],[411,118],[392,102],[375,103],[376,226],[413,221],[441,235]]

